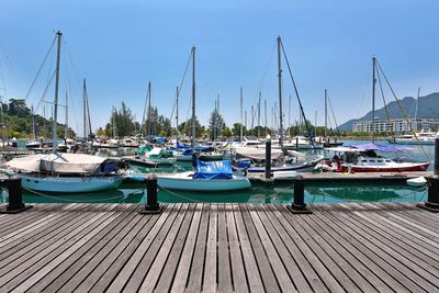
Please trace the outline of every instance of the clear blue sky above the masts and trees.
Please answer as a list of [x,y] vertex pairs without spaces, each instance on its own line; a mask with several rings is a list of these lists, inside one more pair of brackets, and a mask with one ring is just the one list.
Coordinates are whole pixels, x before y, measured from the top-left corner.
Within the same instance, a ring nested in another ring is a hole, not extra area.
[[[317,111],[319,125],[325,88],[339,124],[370,110],[373,55],[398,98],[416,95],[418,87],[421,95],[439,91],[437,0],[3,0],[1,12],[0,94],[25,97],[54,31],[60,30],[68,50],[67,57],[61,56],[61,91],[67,89],[71,95],[69,124],[77,129],[81,127],[82,78],[88,83],[93,128],[109,122],[111,108],[122,101],[140,121],[148,81],[153,83],[153,104],[159,114],[169,116],[193,45],[196,114],[203,124],[207,124],[217,94],[226,124],[239,122],[239,87],[248,111],[261,90],[270,114],[278,99],[278,35],[305,113],[314,122]],[[47,64],[29,104],[36,105],[43,95],[55,66],[54,55]],[[283,94],[288,97],[293,90],[285,67],[283,74]],[[189,116],[190,94],[187,82],[180,121]],[[53,97],[52,87],[46,100]],[[288,110],[288,98],[284,105]],[[37,111],[42,113],[42,109]],[[291,113],[292,122],[299,115],[294,95]],[[64,121],[64,113],[59,120]]]

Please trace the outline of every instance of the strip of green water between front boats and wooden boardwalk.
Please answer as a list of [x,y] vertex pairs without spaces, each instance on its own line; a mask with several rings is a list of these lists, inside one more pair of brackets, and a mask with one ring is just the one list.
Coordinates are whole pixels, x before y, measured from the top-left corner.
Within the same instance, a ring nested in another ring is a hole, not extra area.
[[[42,194],[23,191],[25,203],[145,203],[144,187],[140,183],[125,183],[119,190],[82,194]],[[249,190],[233,192],[189,192],[159,190],[161,203],[291,203],[294,195],[292,183],[257,183]],[[427,199],[426,188],[381,184],[308,184],[305,188],[306,203],[347,202],[423,202]],[[8,193],[2,192],[1,202],[8,202]]]

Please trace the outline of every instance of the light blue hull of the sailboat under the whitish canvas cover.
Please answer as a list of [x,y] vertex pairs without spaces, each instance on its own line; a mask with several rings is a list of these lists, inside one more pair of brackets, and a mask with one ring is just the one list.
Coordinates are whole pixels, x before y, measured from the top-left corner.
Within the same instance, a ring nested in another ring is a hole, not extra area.
[[23,189],[54,193],[81,193],[117,189],[122,177],[38,177],[21,174]]

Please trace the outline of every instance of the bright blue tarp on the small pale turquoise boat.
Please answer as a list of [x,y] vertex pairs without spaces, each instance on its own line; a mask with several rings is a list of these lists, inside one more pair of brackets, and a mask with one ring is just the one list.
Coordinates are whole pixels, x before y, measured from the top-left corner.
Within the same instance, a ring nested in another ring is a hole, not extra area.
[[232,179],[232,164],[229,160],[196,161],[196,172],[193,179]]

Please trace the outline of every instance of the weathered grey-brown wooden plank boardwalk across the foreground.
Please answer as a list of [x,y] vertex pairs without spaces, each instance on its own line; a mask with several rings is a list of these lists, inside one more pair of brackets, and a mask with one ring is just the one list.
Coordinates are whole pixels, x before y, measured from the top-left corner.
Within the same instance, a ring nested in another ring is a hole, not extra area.
[[413,203],[35,204],[0,215],[0,292],[438,292]]

